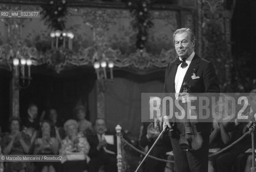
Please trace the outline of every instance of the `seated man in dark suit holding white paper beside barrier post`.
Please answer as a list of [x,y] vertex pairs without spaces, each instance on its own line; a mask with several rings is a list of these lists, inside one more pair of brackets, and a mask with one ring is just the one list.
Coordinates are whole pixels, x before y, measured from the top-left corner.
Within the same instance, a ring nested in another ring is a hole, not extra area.
[[104,119],[96,119],[94,126],[95,134],[88,135],[90,144],[90,162],[89,171],[98,172],[100,166],[104,165],[108,172],[117,171],[116,160],[116,137],[106,132],[106,123]]

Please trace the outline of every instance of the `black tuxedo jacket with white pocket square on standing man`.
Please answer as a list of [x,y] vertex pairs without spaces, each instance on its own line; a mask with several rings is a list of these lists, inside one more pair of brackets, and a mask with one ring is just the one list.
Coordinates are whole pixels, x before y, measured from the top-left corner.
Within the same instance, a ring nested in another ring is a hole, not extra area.
[[[179,64],[176,63],[176,60],[168,64],[163,92],[175,93],[175,75],[178,66]],[[199,78],[192,79],[191,76],[194,74]],[[187,82],[188,85],[190,85],[190,93],[219,92],[219,85],[214,66],[211,62],[200,58],[196,54],[184,76],[182,83],[184,82]],[[198,123],[197,130],[198,132],[210,134],[211,123]]]

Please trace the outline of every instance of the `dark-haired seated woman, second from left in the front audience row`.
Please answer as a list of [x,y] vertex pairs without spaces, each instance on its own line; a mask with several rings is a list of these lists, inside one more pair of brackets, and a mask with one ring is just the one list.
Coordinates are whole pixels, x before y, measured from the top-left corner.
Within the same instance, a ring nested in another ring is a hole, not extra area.
[[[42,121],[39,138],[34,141],[34,155],[58,154],[59,141],[55,138],[55,130],[49,121]],[[54,172],[57,162],[37,162],[36,171]]]

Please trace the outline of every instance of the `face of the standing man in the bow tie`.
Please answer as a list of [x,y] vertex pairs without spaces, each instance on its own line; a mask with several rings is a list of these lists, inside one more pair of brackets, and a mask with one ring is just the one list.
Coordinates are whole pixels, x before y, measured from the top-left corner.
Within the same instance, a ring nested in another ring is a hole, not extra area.
[[194,51],[195,43],[190,40],[187,32],[177,33],[174,38],[174,45],[177,55],[181,59],[187,59]]

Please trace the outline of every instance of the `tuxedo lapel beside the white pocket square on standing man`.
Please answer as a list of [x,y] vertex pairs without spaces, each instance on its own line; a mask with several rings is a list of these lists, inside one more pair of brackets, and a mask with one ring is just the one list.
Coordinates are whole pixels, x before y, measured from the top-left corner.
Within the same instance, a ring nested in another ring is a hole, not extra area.
[[187,73],[183,78],[182,85],[184,82],[187,82],[189,84],[189,81],[191,80],[191,76],[193,75],[193,73],[196,73],[196,71],[199,67],[199,63],[200,63],[200,58],[195,54],[193,60],[189,64]]

